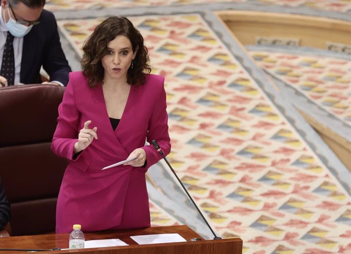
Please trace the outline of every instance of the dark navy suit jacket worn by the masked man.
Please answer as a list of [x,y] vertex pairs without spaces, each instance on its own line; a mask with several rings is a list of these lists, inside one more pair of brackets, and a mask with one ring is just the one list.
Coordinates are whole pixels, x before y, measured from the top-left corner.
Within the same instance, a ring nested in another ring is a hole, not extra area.
[[41,83],[39,72],[42,65],[50,81],[56,80],[67,85],[71,68],[61,48],[55,17],[46,10],[41,13],[40,23],[24,36],[20,82]]

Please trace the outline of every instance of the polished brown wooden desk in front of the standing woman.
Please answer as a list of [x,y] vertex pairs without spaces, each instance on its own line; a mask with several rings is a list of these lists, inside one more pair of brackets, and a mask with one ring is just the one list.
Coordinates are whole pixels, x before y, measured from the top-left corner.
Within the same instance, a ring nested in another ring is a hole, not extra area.
[[[130,236],[150,235],[163,233],[178,233],[188,242],[144,244],[138,245]],[[145,229],[131,229],[118,231],[86,232],[85,240],[114,239],[118,238],[128,246],[115,246],[105,248],[89,248],[78,250],[52,250],[38,253],[119,253],[119,254],[241,254],[243,241],[240,238],[222,240],[189,241],[192,238],[201,238],[187,226],[153,227]],[[27,248],[27,249],[52,249],[68,248],[69,234],[46,234],[34,236],[14,236],[0,238],[0,248]],[[0,254],[18,253],[18,251],[0,251]]]

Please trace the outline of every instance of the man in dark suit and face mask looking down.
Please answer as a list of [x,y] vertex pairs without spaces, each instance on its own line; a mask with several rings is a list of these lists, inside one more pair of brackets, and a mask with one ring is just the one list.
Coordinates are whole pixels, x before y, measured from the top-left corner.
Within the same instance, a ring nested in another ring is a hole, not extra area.
[[[54,15],[45,0],[2,0],[0,7],[0,83],[2,86],[50,83],[66,86],[71,68],[62,50]],[[46,82],[47,83],[47,82]]]

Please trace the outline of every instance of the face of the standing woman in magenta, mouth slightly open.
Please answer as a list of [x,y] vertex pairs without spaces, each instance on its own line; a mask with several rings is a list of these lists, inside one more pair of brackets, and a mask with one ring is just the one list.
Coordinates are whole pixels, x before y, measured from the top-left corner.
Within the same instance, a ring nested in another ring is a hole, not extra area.
[[123,35],[116,36],[110,41],[107,44],[106,54],[101,58],[105,70],[104,79],[127,80],[127,72],[136,52],[133,53],[130,40]]

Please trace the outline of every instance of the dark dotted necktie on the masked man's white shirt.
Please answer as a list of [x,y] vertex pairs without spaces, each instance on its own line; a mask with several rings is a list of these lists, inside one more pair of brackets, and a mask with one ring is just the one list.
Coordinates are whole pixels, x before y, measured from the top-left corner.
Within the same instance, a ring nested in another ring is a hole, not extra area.
[[13,85],[15,82],[15,56],[13,53],[13,35],[8,31],[3,53],[3,62],[1,64],[0,76],[7,79],[7,85]]

